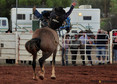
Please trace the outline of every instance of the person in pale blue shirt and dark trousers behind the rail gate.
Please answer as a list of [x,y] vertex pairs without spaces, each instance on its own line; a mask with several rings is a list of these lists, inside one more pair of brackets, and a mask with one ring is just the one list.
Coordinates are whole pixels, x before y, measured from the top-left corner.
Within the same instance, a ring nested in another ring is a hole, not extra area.
[[80,36],[79,40],[81,40],[81,46],[80,46],[80,54],[81,54],[81,59],[82,59],[82,63],[83,66],[85,65],[85,44],[86,44],[86,40],[87,40],[87,35],[84,32],[82,36]]

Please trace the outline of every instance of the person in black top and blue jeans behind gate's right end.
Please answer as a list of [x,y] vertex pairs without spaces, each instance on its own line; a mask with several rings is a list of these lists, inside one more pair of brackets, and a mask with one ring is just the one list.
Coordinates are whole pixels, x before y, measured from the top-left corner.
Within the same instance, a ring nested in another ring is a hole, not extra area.
[[[98,62],[99,65],[101,64],[105,64],[105,54],[106,54],[106,34],[104,34],[101,30],[98,31],[98,34],[96,36],[97,39],[97,58],[98,58]],[[103,62],[101,63],[101,57]]]

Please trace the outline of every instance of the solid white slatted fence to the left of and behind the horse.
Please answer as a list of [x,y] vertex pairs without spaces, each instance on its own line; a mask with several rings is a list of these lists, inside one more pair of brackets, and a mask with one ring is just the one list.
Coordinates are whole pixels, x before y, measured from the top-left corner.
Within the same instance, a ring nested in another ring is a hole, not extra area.
[[[25,43],[32,38],[29,32],[0,33],[0,60],[14,59],[15,63],[21,61],[32,61],[32,55],[25,49]],[[38,52],[37,60],[42,56]],[[52,56],[46,61],[51,61]],[[57,61],[61,61],[60,46],[57,51]]]

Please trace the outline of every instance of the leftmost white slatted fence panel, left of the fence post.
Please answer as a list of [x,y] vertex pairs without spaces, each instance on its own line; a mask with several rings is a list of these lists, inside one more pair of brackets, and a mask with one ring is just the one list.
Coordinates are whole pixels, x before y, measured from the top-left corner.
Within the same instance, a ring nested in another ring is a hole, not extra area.
[[15,59],[16,35],[0,33],[0,59]]

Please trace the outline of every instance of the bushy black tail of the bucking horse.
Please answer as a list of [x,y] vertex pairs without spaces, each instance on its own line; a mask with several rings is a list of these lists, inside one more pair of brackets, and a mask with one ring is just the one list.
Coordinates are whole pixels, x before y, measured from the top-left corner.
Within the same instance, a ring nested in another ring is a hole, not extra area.
[[40,38],[33,38],[26,42],[25,48],[29,53],[35,55],[40,50],[40,42]]

